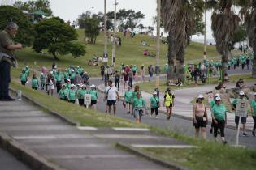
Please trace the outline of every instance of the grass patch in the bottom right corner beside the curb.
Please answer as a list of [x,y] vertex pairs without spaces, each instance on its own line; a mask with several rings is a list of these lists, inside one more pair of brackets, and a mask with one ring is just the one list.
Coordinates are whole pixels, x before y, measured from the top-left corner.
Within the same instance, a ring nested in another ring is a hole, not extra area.
[[194,170],[253,170],[256,151],[210,144],[197,149],[146,148],[143,151]]

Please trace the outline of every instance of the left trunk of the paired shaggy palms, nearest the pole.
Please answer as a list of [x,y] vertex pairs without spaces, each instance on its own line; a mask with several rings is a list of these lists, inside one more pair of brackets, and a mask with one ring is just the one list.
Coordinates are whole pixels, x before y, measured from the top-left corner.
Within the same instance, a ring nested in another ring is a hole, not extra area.
[[175,25],[172,23],[171,30],[168,34],[168,65],[169,65],[169,72],[167,74],[167,82],[169,79],[175,78],[175,66],[174,62],[176,60],[176,50],[175,50]]

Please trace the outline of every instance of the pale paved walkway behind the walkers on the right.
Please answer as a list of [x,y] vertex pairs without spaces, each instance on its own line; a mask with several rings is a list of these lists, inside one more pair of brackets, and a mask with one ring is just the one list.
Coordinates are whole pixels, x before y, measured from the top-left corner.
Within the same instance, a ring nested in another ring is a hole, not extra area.
[[[140,82],[137,82],[140,83]],[[136,84],[136,83],[134,83]],[[253,86],[254,83],[247,83],[248,86]],[[134,87],[134,86],[133,86]],[[235,83],[229,83],[227,84],[227,88],[235,87]],[[192,108],[193,104],[190,104],[192,100],[198,95],[198,94],[204,94],[206,92],[212,91],[215,88],[215,85],[206,85],[203,87],[190,87],[190,88],[182,88],[179,90],[173,90],[172,93],[175,95],[175,105],[173,108],[173,114],[176,116],[184,117],[186,119],[191,119],[192,116]],[[101,84],[98,86],[99,91],[104,91],[104,84]],[[119,88],[119,96],[124,97],[124,86],[120,86]],[[142,91],[143,99],[146,101],[147,106],[150,107],[150,97],[152,94]],[[166,108],[163,107],[163,91],[160,91],[160,104],[161,107],[159,108],[159,111],[162,113],[166,112]],[[207,108],[207,113],[209,117],[209,121],[211,121],[211,112],[210,108]],[[227,114],[227,124],[229,126],[232,126],[233,128],[236,127],[235,124],[235,114],[234,113],[228,113]],[[252,117],[248,117],[246,128],[248,130],[252,130],[254,126],[254,120]]]

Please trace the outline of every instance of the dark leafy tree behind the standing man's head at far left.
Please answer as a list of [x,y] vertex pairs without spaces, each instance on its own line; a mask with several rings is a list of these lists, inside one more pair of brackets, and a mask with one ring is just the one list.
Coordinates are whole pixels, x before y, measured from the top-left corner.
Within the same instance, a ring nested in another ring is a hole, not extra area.
[[15,39],[24,45],[32,45],[34,29],[28,17],[15,7],[0,6],[0,29],[3,30],[11,21],[19,26]]

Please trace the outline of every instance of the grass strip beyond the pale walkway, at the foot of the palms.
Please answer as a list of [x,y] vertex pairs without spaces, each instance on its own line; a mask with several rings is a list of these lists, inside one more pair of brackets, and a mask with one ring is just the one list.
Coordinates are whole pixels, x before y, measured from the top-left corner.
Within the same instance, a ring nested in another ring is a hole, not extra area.
[[[251,74],[241,74],[241,75],[229,76],[229,83],[236,83],[236,81],[240,78],[243,78],[245,83],[246,82],[254,82],[256,80],[255,78],[252,78]],[[207,84],[208,84],[208,81],[206,81],[206,84],[202,84],[202,83],[200,83],[200,81],[198,81],[198,86],[197,87],[206,86]],[[218,78],[211,78],[210,79],[210,84],[216,84],[217,85],[218,84]],[[154,88],[156,87],[155,81],[137,83],[137,85],[140,86],[141,91],[147,91],[147,92],[154,91]],[[167,87],[171,87],[172,90],[176,90],[176,89],[180,89],[180,88],[188,88],[188,87],[196,87],[196,86],[194,85],[194,82],[187,83],[187,84],[185,84],[184,86],[181,86],[181,87],[167,86],[165,80],[160,81],[159,90],[161,92],[166,91]]]

